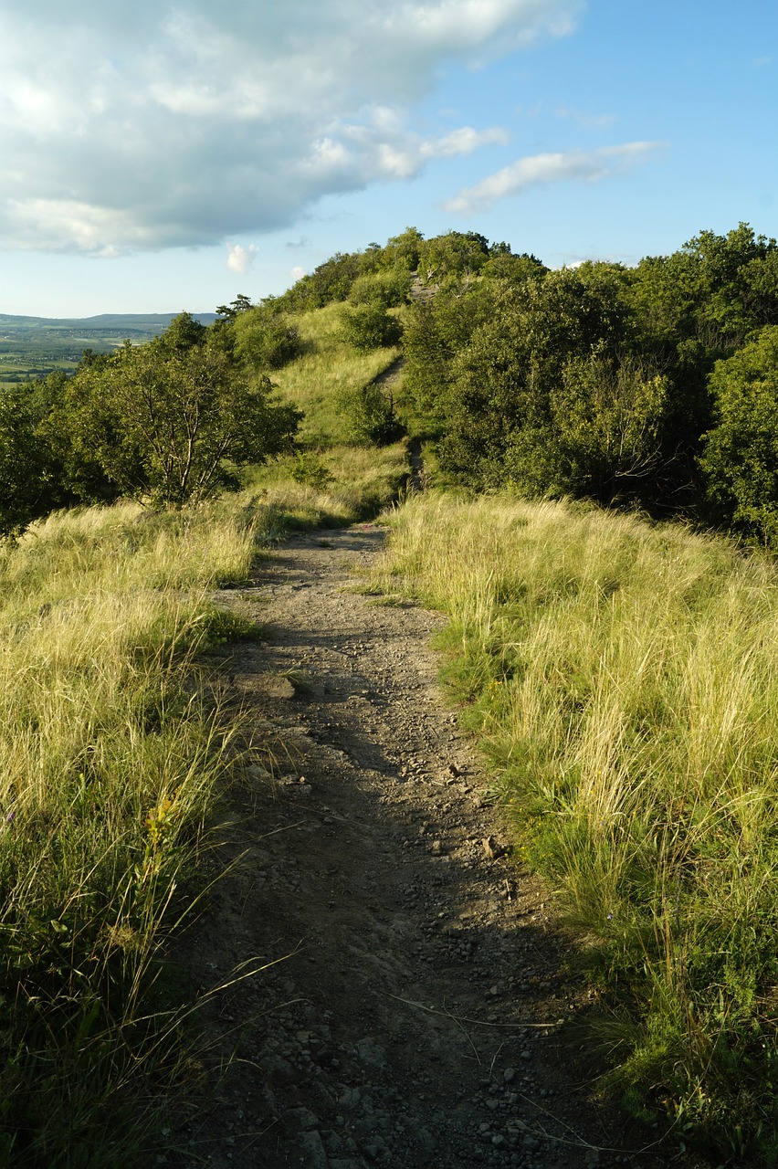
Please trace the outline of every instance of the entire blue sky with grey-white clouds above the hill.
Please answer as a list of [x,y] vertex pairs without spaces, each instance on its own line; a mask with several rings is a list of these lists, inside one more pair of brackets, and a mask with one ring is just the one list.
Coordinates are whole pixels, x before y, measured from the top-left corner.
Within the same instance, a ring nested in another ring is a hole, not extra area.
[[774,0],[0,0],[0,312],[213,311],[480,231],[778,235]]

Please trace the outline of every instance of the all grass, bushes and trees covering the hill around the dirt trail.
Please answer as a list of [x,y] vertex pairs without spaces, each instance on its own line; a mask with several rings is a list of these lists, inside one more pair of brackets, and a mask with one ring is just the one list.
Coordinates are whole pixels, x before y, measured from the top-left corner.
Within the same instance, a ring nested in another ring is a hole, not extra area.
[[0,394],[0,1150],[107,1165],[102,1118],[153,1115],[182,1050],[162,943],[236,766],[197,653],[252,635],[208,589],[385,507],[411,438],[449,490],[394,512],[371,587],[450,615],[446,684],[576,929],[609,1086],[771,1163],[776,241],[550,271],[409,228],[217,313]]

